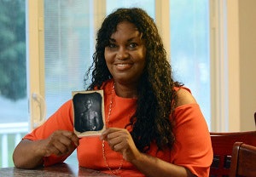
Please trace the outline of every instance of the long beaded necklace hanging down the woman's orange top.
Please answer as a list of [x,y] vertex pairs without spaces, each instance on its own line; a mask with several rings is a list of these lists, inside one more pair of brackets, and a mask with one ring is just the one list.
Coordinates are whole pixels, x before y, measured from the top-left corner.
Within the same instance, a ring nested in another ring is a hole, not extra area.
[[[109,105],[109,109],[108,109],[108,119],[107,119],[107,123],[106,123],[106,128],[108,128],[108,123],[109,123],[109,119],[110,119],[110,115],[111,115],[111,111],[112,111],[113,92],[114,92],[114,83],[113,83],[113,88],[111,90],[111,99],[110,99],[110,105]],[[103,154],[104,163],[106,164],[106,167],[111,171],[111,173],[114,174],[114,175],[119,174],[119,171],[122,168],[123,163],[124,163],[124,158],[120,162],[119,168],[117,168],[117,169],[110,168],[109,165],[108,165],[108,159],[106,157],[105,140],[102,140],[102,154]]]

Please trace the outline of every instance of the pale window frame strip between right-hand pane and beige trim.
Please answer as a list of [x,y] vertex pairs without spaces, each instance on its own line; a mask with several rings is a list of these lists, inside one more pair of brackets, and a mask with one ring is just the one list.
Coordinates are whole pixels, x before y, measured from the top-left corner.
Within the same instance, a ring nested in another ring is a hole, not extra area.
[[210,55],[211,55],[211,128],[214,131],[220,132],[226,129],[226,121],[224,117],[228,117],[228,102],[227,102],[227,67],[225,60],[226,54],[226,21],[225,16],[225,1],[211,0],[210,1]]

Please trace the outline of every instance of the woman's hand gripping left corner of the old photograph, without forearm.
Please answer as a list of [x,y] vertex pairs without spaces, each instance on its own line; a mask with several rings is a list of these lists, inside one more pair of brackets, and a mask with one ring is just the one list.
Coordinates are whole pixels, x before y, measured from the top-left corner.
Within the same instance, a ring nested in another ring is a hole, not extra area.
[[41,141],[38,150],[44,157],[52,154],[63,156],[71,153],[77,146],[79,146],[79,138],[76,134],[67,130],[57,130]]

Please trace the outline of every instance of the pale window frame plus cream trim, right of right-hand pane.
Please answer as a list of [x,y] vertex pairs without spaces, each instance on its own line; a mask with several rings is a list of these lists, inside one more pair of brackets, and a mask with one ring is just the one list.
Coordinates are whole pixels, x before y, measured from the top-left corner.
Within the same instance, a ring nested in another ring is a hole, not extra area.
[[212,131],[240,131],[238,0],[210,0]]

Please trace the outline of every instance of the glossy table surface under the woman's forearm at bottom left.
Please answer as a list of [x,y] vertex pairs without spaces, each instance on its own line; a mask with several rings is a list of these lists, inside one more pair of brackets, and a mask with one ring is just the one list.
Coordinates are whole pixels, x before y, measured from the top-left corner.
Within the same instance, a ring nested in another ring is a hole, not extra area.
[[21,177],[74,177],[74,176],[113,176],[104,174],[89,168],[78,167],[67,163],[59,163],[50,167],[35,168],[35,169],[20,169],[20,168],[0,168],[0,176],[21,176]]

